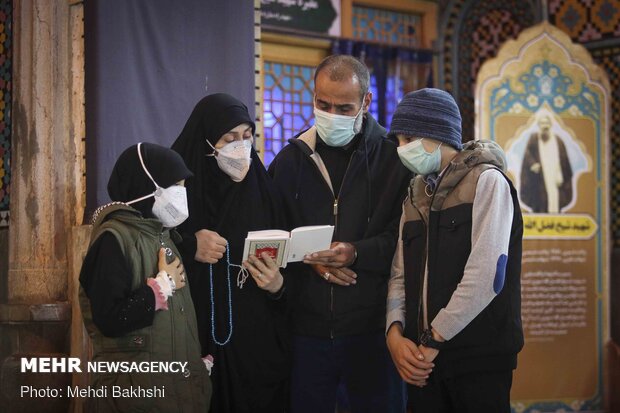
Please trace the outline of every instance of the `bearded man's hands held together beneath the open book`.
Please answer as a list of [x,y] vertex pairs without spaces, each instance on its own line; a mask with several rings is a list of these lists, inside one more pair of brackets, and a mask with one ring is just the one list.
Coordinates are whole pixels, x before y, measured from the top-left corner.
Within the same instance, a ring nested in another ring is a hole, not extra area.
[[304,257],[314,272],[328,283],[347,287],[357,283],[357,274],[348,267],[355,261],[355,247],[348,242],[332,242],[330,249]]

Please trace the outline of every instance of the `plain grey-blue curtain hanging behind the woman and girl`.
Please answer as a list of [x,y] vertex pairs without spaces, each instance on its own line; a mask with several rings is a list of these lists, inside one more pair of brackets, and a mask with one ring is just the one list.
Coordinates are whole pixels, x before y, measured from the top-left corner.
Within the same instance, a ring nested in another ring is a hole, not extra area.
[[247,0],[88,0],[86,215],[108,202],[120,153],[170,146],[205,94],[254,112],[254,4]]

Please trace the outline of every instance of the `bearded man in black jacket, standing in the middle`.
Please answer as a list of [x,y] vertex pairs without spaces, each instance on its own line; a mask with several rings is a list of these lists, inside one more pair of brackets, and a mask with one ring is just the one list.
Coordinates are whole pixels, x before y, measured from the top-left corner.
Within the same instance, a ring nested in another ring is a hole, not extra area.
[[292,411],[402,412],[403,383],[385,344],[387,281],[410,173],[368,113],[368,69],[330,56],[316,69],[315,125],[269,167],[293,227],[335,226],[331,249],[290,268]]

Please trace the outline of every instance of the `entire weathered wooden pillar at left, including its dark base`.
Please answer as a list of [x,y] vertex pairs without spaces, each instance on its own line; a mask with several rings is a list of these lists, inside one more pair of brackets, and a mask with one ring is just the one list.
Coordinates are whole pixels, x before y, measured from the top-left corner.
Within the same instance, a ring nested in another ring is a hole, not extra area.
[[[75,0],[13,1],[13,133],[6,303],[0,304],[0,405],[66,412],[70,374],[20,373],[20,359],[67,357],[71,230],[84,211],[84,22]],[[4,410],[3,410],[4,411]]]

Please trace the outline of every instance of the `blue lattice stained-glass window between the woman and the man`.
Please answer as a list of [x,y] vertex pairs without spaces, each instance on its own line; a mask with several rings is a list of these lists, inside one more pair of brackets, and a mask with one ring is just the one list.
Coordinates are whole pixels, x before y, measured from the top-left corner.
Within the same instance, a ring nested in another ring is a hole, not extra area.
[[313,124],[314,68],[265,61],[264,73],[263,161],[267,166],[288,139]]

